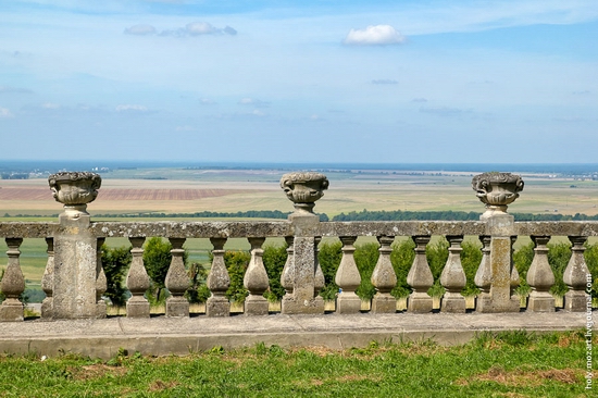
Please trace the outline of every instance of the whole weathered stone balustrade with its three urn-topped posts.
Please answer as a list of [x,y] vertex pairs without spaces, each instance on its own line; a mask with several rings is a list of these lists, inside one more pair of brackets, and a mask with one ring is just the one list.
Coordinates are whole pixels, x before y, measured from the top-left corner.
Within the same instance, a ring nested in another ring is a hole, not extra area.
[[371,302],[373,313],[397,312],[396,299],[390,290],[397,276],[390,263],[390,245],[395,237],[411,237],[415,242],[415,257],[407,277],[412,293],[407,311],[432,312],[433,299],[427,295],[433,275],[426,260],[425,248],[433,236],[444,236],[449,242],[447,263],[440,276],[446,293],[440,301],[443,312],[465,312],[465,298],[460,294],[465,286],[465,273],[460,251],[464,236],[477,236],[483,244],[482,262],[475,275],[478,295],[475,311],[519,312],[520,299],[513,290],[520,276],[512,263],[512,246],[518,236],[531,236],[535,242],[535,257],[527,272],[532,293],[527,311],[555,311],[555,298],[549,294],[555,275],[548,263],[547,242],[551,236],[568,236],[572,242],[572,257],[563,279],[569,287],[564,296],[564,310],[585,312],[590,302],[586,291],[591,281],[584,260],[584,242],[598,236],[597,222],[514,222],[507,206],[523,189],[523,181],[509,173],[485,173],[475,176],[473,188],[486,204],[486,212],[477,222],[409,221],[409,222],[320,222],[312,210],[323,196],[328,181],[319,173],[289,173],[281,186],[295,203],[296,211],[288,221],[279,222],[92,222],[87,203],[98,195],[101,178],[94,173],[66,172],[50,176],[54,198],[64,204],[58,223],[0,223],[0,237],[9,250],[0,290],[5,296],[0,306],[0,321],[23,321],[24,306],[20,296],[25,279],[20,264],[20,246],[25,238],[45,238],[48,262],[41,281],[46,299],[41,318],[92,319],[107,315],[102,294],[107,279],[100,260],[100,247],[109,237],[125,237],[132,244],[133,261],[126,286],[132,297],[126,304],[126,316],[149,318],[150,304],[144,296],[150,286],[142,253],[148,237],[167,238],[172,246],[172,262],[165,286],[171,296],[166,300],[166,316],[188,316],[189,302],[184,293],[189,287],[183,261],[186,239],[209,238],[213,260],[207,285],[211,297],[205,304],[207,316],[227,316],[231,303],[225,297],[229,276],[224,263],[224,245],[228,238],[246,238],[251,246],[251,260],[244,285],[249,291],[245,300],[246,315],[265,315],[269,303],[263,293],[269,278],[262,261],[262,245],[269,237],[284,238],[288,244],[288,258],[281,276],[286,290],[281,312],[288,314],[322,314],[324,300],[319,296],[324,287],[324,275],[317,261],[317,245],[324,237],[338,237],[342,242],[342,258],[336,274],[340,291],[336,299],[337,313],[361,311],[361,299],[356,295],[361,279],[353,252],[360,236],[374,236],[379,242],[379,258],[372,275],[376,295]]

